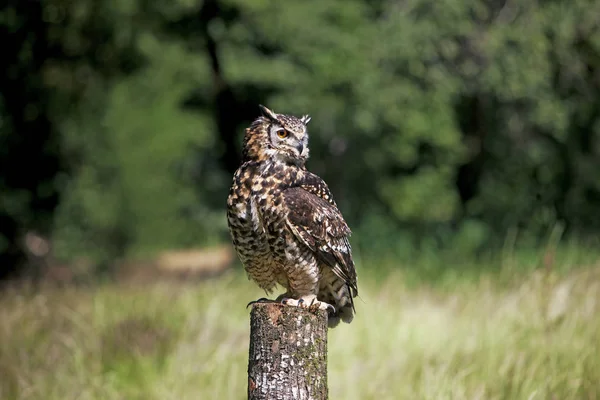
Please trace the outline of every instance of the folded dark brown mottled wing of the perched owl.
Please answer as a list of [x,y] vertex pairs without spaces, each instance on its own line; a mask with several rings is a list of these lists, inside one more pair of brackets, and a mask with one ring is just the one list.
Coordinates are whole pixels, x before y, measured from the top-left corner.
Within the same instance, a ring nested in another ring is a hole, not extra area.
[[289,229],[315,252],[319,261],[331,267],[356,296],[356,270],[348,241],[351,231],[325,182],[311,174],[299,187],[286,189],[283,196]]

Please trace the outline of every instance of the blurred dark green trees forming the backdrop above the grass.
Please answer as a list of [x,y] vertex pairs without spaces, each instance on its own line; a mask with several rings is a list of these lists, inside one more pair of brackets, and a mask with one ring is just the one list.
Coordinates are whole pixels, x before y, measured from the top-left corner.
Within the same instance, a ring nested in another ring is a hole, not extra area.
[[[260,102],[311,114],[308,166],[365,247],[384,237],[477,252],[512,229],[539,242],[556,224],[595,234],[598,7],[132,0],[50,2],[37,15],[8,6],[2,26],[37,24],[52,44],[35,56],[23,39],[9,67],[43,91],[36,107],[60,143],[48,152],[65,168],[35,189],[0,181],[3,215],[42,225],[29,203],[55,188],[57,209],[46,211],[64,256],[227,240],[224,201]],[[11,99],[0,100],[18,122]],[[1,137],[20,134],[8,122]]]

